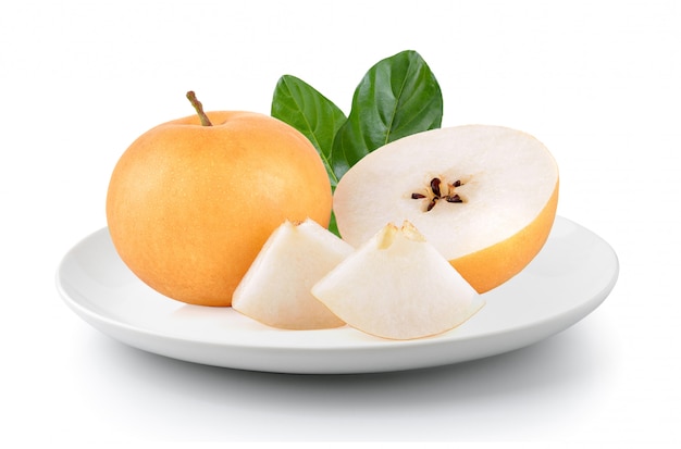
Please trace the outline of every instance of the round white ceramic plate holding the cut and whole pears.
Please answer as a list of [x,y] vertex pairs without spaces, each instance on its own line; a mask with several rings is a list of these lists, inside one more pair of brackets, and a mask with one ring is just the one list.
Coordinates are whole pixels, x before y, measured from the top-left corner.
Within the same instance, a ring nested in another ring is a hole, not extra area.
[[350,327],[281,330],[230,308],[188,305],[151,290],[123,264],[107,228],[77,244],[57,273],[57,288],[86,322],[158,354],[243,370],[369,373],[419,369],[499,354],[577,323],[608,296],[619,263],[612,248],[558,216],[540,254],[519,275],[485,294],[467,323],[436,337],[392,341]]

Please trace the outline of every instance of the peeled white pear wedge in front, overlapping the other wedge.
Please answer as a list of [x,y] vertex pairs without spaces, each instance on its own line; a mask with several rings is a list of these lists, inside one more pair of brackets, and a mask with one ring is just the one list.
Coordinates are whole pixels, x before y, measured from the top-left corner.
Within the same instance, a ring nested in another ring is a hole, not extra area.
[[449,330],[484,304],[409,222],[384,226],[319,280],[312,295],[348,325],[400,340]]

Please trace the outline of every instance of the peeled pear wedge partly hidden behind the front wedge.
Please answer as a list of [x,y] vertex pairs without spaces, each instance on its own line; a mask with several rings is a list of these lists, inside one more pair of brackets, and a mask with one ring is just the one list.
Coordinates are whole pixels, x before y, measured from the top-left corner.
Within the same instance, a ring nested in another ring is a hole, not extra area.
[[285,222],[267,240],[232,297],[232,308],[272,327],[345,325],[310,288],[354,248],[312,220]]

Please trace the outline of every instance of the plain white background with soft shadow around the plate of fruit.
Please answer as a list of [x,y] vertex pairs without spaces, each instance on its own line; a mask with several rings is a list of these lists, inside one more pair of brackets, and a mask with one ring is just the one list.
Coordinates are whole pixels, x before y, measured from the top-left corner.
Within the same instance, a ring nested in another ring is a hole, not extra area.
[[[671,0],[2,2],[0,438],[679,441],[680,25]],[[304,376],[145,353],[65,307],[61,258],[106,226],[127,145],[194,112],[186,90],[269,113],[290,73],[347,113],[364,72],[405,49],[438,78],[443,125],[516,127],[553,151],[558,213],[620,260],[594,313],[486,360]]]

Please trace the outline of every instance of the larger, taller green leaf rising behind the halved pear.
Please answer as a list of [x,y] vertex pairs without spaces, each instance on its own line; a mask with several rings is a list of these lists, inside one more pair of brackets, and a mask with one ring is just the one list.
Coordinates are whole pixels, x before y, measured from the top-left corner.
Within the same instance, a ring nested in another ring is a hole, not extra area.
[[438,128],[442,115],[439,85],[419,53],[407,50],[380,61],[357,86],[350,114],[334,138],[336,178],[385,144]]

